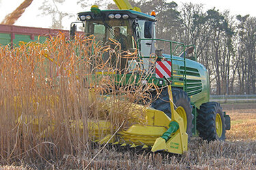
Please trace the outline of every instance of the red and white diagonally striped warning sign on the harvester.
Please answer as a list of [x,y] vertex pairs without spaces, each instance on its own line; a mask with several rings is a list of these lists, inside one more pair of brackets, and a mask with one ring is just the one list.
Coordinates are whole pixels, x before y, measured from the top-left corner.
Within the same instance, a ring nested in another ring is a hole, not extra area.
[[156,78],[171,78],[171,61],[156,62]]

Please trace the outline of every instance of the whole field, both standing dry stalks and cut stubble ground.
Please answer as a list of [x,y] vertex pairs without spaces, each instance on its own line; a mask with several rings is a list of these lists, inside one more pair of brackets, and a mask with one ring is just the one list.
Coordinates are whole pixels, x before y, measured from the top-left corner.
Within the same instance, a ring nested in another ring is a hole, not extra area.
[[[195,137],[183,155],[91,143],[89,120],[109,120],[111,133],[130,126],[132,114],[144,123],[153,84],[143,84],[150,75],[129,62],[136,56],[115,41],[103,46],[94,37],[70,41],[63,34],[44,44],[0,47],[1,169],[255,169],[255,107],[229,109],[227,141]],[[120,69],[124,61],[128,67]]]

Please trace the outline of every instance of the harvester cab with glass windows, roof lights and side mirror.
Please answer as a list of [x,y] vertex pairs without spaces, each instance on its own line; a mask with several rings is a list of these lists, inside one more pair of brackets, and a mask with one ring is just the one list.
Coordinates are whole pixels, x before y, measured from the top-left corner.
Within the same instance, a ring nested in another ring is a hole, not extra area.
[[[115,39],[120,43],[122,50],[137,49],[141,56],[155,54],[155,16],[134,10],[100,10],[98,6],[93,5],[90,12],[80,12],[78,19],[84,25],[85,35],[94,35],[96,41],[103,46],[111,44],[111,39]],[[72,22],[70,26],[72,37],[75,24],[77,22]],[[149,69],[149,58],[143,58],[142,67]]]

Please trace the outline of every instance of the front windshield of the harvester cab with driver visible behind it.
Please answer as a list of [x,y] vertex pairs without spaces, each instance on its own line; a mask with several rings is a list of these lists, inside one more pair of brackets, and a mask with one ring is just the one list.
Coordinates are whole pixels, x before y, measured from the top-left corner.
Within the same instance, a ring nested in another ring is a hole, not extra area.
[[106,44],[109,39],[117,40],[122,50],[134,48],[132,45],[132,20],[87,20],[85,34],[95,35],[96,41]]

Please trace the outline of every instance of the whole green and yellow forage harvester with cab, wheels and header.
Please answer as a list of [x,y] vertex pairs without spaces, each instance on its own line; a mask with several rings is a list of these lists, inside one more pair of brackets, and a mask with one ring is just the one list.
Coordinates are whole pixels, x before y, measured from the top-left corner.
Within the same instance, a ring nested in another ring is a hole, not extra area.
[[[195,53],[195,47],[156,39],[154,12],[151,15],[143,14],[138,7],[132,7],[126,0],[115,3],[119,10],[100,10],[98,6],[93,5],[91,11],[78,14],[85,35],[94,35],[102,46],[115,39],[121,50],[138,50],[138,58],[142,61],[145,71],[150,70],[151,57],[157,58],[154,62],[155,70],[147,82],[162,90],[151,107],[144,110],[146,123],[143,125],[135,121],[130,128],[118,131],[113,137],[109,133],[110,122],[89,122],[94,134],[100,133],[100,129],[104,131],[105,137],[95,135],[96,141],[101,144],[152,147],[153,152],[165,150],[182,154],[186,152],[188,139],[192,135],[199,135],[208,141],[224,140],[225,131],[230,128],[230,118],[218,103],[209,102],[208,71],[196,62],[196,56],[190,59],[187,57],[187,54]],[[76,23],[71,24],[72,36]],[[161,48],[156,45],[156,41],[167,43],[169,54],[162,54],[161,50],[156,50],[156,46]],[[180,52],[177,52],[177,48],[181,49]],[[104,57],[108,56],[103,55],[103,60]]]

